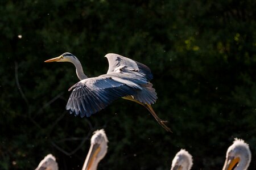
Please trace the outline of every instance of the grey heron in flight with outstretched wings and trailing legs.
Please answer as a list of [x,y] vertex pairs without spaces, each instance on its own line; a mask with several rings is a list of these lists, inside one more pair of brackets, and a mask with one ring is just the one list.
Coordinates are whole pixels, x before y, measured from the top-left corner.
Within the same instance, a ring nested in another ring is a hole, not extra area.
[[150,83],[153,78],[150,69],[142,63],[118,54],[110,53],[105,57],[109,61],[108,72],[93,78],[88,78],[84,74],[79,59],[71,53],[44,61],[71,62],[76,67],[80,82],[69,88],[69,91],[74,88],[66,105],[69,113],[89,117],[122,97],[146,107],[164,129],[171,131],[166,125],[167,121],[160,119],[151,107],[158,97]]

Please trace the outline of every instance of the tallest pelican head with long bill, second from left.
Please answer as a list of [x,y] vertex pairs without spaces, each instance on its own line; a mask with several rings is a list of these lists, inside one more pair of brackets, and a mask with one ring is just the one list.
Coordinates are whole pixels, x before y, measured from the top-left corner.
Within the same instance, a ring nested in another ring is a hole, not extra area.
[[104,129],[94,131],[90,139],[90,149],[86,156],[82,170],[96,170],[98,163],[104,158],[108,150],[108,138]]

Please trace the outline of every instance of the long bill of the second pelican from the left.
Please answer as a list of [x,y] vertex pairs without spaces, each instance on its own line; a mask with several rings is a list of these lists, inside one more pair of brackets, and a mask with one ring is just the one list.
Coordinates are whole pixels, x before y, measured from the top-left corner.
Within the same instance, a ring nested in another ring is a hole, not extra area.
[[100,151],[101,151],[100,145],[94,144],[93,146],[91,146],[88,152],[88,155],[86,157],[84,167],[82,169],[90,170],[96,159],[96,156],[98,155],[98,152]]

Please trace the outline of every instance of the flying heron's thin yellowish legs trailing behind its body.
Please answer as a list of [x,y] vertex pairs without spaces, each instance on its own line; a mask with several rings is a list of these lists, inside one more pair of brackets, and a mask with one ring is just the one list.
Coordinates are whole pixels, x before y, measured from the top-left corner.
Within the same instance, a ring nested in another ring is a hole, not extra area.
[[155,113],[155,111],[153,110],[153,108],[151,107],[151,105],[149,104],[145,104],[145,103],[141,103],[141,101],[138,101],[138,100],[135,100],[132,96],[125,96],[125,97],[122,97],[123,99],[126,99],[126,100],[131,100],[131,101],[135,101],[136,103],[138,104],[141,104],[143,105],[145,108],[147,108],[148,111],[150,111],[150,113],[152,114],[152,116],[155,117],[155,120],[158,121],[158,123],[166,130],[166,131],[171,131],[170,128],[168,128],[168,126],[166,125],[168,121],[164,121],[162,119],[160,119],[157,114]]

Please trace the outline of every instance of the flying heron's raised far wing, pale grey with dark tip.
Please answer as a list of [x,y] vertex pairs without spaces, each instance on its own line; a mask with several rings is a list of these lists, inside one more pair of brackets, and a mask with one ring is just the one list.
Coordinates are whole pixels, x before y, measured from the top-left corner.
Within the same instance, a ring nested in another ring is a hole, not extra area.
[[107,74],[113,72],[128,72],[141,74],[144,76],[144,78],[147,79],[147,81],[150,81],[153,78],[150,68],[148,68],[146,65],[143,65],[143,63],[114,53],[106,54],[105,57],[108,58],[109,61],[109,70]]

